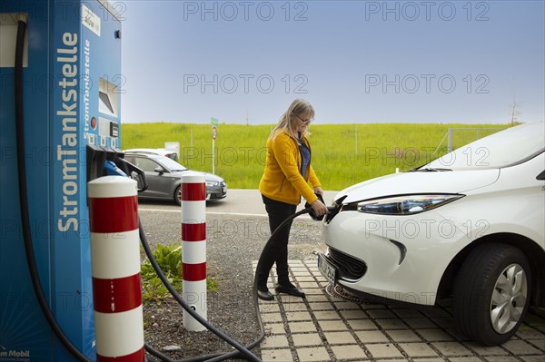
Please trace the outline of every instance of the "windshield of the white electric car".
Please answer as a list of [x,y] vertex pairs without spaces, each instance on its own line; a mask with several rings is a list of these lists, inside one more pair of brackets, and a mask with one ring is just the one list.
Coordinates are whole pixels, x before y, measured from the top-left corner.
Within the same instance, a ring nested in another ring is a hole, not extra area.
[[524,161],[544,148],[545,123],[521,124],[462,146],[420,170],[501,168]]

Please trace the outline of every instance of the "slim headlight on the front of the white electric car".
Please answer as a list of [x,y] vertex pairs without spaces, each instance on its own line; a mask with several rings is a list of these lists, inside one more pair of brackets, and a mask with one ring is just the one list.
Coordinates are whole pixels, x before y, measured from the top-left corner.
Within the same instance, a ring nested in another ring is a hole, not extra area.
[[383,215],[413,215],[438,208],[441,205],[458,200],[463,196],[464,195],[452,194],[394,196],[358,202],[356,210]]

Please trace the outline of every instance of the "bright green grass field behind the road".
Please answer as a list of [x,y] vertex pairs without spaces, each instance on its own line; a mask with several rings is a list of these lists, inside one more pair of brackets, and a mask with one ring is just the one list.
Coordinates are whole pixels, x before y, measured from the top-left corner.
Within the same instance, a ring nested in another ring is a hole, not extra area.
[[[229,188],[257,188],[272,127],[223,123],[217,127],[214,171]],[[447,150],[445,135],[450,127],[463,128],[453,132],[453,147],[457,148],[507,125],[312,124],[312,167],[324,190],[342,190],[396,168],[407,171],[441,157]],[[122,137],[124,149],[163,148],[164,142],[180,142],[180,163],[192,170],[212,171],[209,124],[124,123]]]

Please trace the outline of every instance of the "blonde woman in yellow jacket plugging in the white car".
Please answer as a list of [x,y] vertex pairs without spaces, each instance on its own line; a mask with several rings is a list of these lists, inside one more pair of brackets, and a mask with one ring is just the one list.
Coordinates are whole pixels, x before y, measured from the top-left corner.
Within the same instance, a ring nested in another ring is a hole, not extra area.
[[[295,213],[301,196],[311,204],[316,216],[327,213],[327,207],[318,199],[317,195],[322,195],[323,190],[311,165],[308,126],[313,119],[312,104],[296,99],[282,114],[267,139],[265,171],[259,183],[259,191],[269,215],[271,233]],[[274,298],[267,288],[267,279],[274,263],[277,275],[275,291],[305,297],[304,292],[289,279],[288,240],[291,227],[290,222],[271,240],[269,247],[263,249],[262,263],[256,272],[257,295],[263,300]]]

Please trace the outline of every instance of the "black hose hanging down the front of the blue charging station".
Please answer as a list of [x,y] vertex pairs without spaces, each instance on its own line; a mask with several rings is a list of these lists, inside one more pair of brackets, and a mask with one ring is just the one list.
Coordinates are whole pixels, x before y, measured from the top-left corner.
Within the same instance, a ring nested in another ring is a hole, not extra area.
[[21,223],[23,227],[23,240],[25,241],[26,263],[30,272],[30,279],[35,289],[38,304],[42,308],[45,319],[53,329],[54,334],[66,349],[77,359],[91,362],[72,342],[64,335],[63,329],[57,324],[53,313],[47,304],[44,289],[40,283],[32,236],[30,233],[30,218],[28,216],[28,194],[26,191],[26,162],[25,162],[25,118],[23,114],[23,51],[25,49],[26,23],[19,20],[17,24],[17,40],[15,45],[15,132],[17,142],[17,175],[19,178],[19,200],[21,204]]

